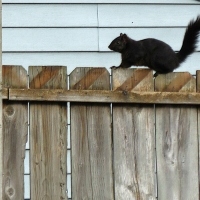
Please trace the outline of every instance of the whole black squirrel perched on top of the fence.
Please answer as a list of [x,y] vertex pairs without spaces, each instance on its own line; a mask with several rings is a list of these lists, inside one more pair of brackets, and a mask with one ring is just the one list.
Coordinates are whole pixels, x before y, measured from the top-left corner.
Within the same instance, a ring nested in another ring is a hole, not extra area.
[[168,44],[154,38],[135,41],[121,33],[108,46],[109,49],[121,53],[122,57],[121,64],[111,68],[147,66],[156,71],[154,77],[173,72],[195,51],[199,34],[200,15],[188,24],[179,52],[174,52]]

